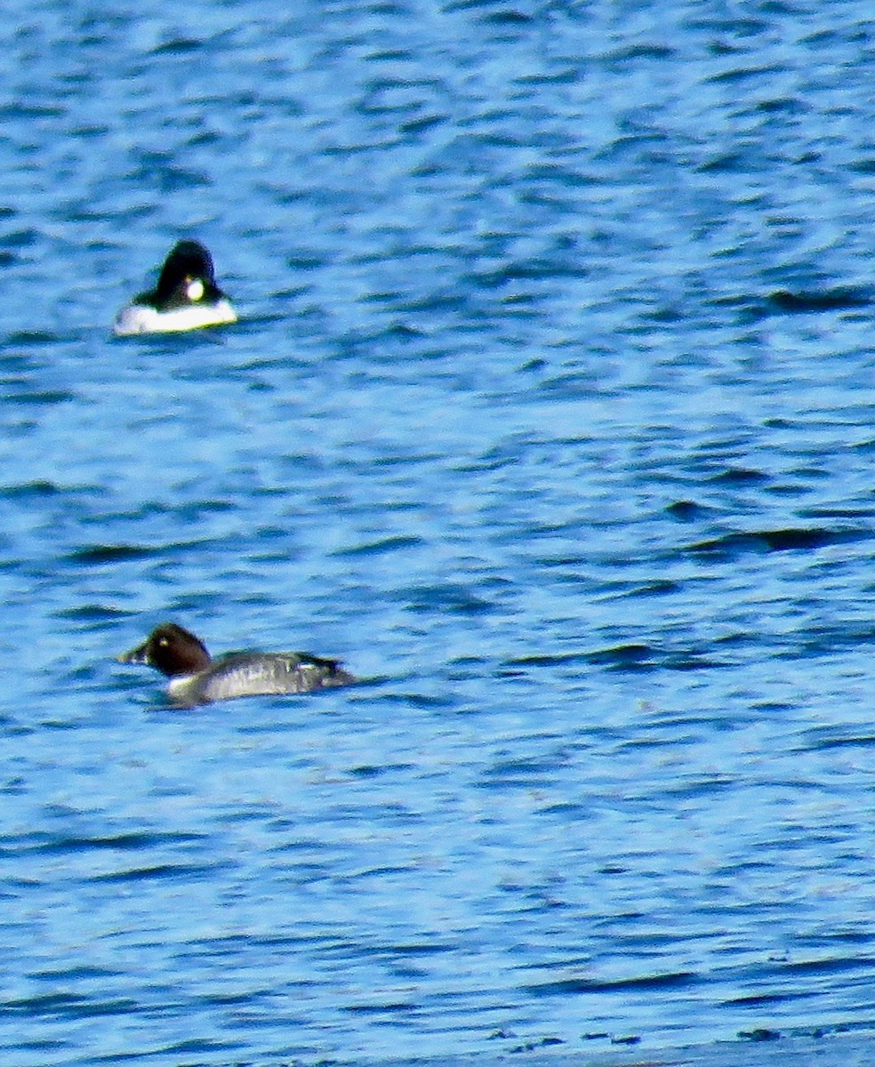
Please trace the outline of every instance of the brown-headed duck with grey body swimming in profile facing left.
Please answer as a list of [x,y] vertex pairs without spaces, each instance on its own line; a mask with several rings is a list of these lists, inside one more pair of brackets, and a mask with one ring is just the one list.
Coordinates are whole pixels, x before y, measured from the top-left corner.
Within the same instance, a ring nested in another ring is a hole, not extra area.
[[228,652],[216,659],[191,631],[162,622],[118,663],[155,667],[170,679],[168,696],[179,707],[272,694],[313,692],[360,680],[336,659],[306,652]]

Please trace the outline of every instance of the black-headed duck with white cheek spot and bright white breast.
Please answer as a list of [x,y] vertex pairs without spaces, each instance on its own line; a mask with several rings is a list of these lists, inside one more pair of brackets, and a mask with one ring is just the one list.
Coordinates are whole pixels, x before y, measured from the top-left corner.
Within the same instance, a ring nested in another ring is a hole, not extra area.
[[113,333],[131,337],[144,333],[181,333],[236,322],[237,313],[216,284],[212,256],[200,241],[173,246],[158,285],[141,292],[116,315]]

